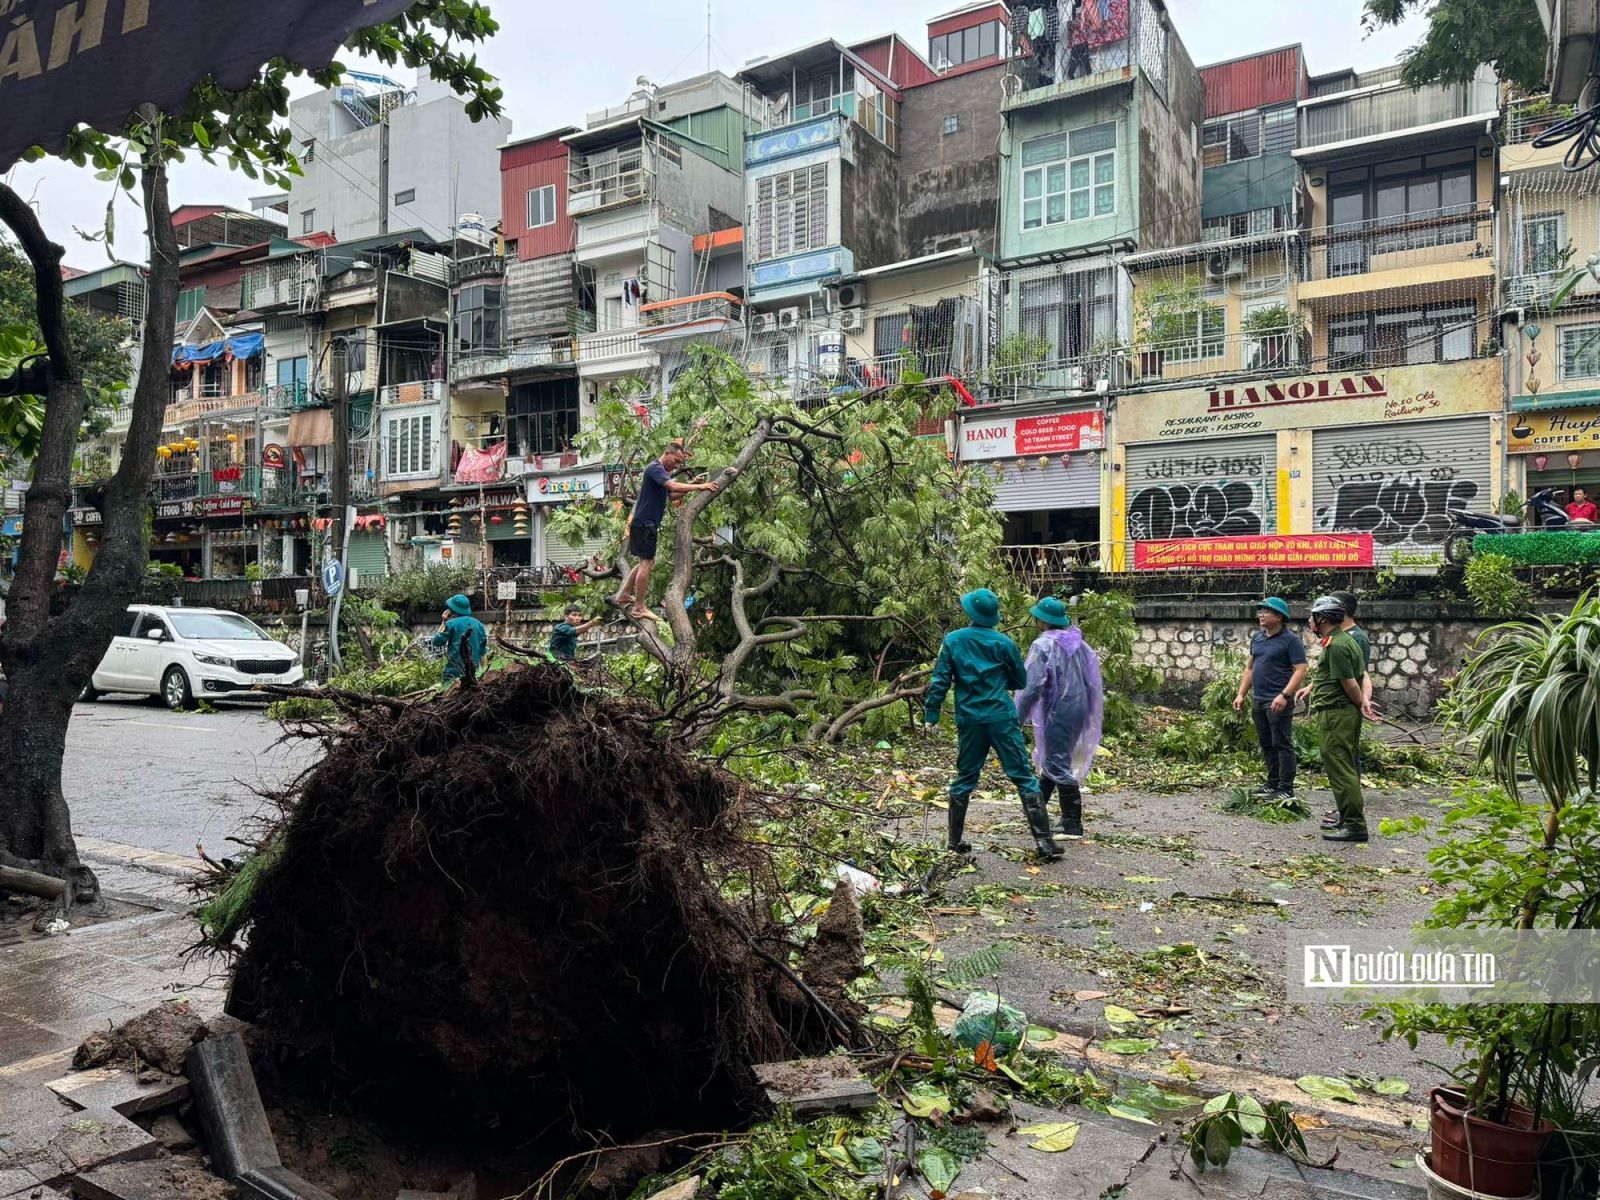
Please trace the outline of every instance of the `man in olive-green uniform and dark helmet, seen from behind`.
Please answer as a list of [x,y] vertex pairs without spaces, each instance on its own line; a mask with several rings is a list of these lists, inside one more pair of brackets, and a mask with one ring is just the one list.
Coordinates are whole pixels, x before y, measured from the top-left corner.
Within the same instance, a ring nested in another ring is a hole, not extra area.
[[1362,717],[1370,712],[1363,691],[1366,664],[1355,638],[1342,629],[1344,605],[1325,595],[1310,606],[1310,627],[1322,642],[1322,658],[1310,677],[1310,715],[1322,744],[1322,766],[1338,805],[1339,824],[1326,827],[1328,842],[1366,842],[1366,808],[1357,755]]

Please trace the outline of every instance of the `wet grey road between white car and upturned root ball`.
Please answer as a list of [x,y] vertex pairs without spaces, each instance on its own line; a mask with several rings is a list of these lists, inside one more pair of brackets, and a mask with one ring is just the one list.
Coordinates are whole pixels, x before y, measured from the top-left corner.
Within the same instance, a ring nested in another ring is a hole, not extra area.
[[274,787],[312,760],[304,744],[275,746],[262,707],[168,712],[155,701],[78,704],[67,728],[62,787],[78,835],[170,854],[227,848],[250,818],[270,811],[253,789]]

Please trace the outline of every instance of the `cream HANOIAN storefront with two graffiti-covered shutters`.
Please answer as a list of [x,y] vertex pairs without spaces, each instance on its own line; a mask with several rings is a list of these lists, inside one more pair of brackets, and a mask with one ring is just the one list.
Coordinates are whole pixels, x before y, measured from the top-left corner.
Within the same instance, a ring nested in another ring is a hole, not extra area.
[[1142,541],[1362,534],[1374,565],[1437,565],[1453,514],[1499,506],[1504,424],[1498,358],[1125,395],[1109,562],[1133,570]]

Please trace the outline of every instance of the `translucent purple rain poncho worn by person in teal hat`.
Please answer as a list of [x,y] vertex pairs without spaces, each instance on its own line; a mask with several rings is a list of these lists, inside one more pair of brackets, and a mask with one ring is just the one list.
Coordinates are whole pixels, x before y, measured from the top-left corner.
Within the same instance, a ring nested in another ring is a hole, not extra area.
[[1051,629],[1027,651],[1027,686],[1016,715],[1034,725],[1034,765],[1058,784],[1082,784],[1099,747],[1106,717],[1099,659],[1083,634]]

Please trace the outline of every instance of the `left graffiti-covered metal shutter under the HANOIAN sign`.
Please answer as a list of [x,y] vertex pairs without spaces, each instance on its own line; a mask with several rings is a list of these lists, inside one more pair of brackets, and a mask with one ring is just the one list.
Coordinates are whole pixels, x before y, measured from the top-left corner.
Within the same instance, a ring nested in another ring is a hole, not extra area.
[[1278,440],[1219,437],[1128,446],[1128,541],[1278,531]]

